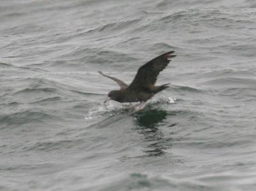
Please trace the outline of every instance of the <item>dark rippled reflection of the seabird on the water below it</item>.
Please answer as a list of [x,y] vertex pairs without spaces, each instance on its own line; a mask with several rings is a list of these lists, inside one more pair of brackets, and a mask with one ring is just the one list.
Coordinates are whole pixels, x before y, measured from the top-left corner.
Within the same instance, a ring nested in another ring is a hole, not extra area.
[[134,114],[134,125],[140,134],[145,136],[145,153],[149,157],[157,157],[164,154],[164,149],[170,147],[170,138],[164,138],[159,126],[163,125],[168,112],[160,109],[147,109]]

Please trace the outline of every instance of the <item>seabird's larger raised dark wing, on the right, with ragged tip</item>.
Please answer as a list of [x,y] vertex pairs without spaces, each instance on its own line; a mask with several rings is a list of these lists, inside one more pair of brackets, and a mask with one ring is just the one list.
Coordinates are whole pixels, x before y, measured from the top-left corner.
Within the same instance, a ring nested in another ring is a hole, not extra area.
[[176,56],[173,55],[173,53],[174,51],[166,52],[141,66],[128,89],[131,91],[152,89],[156,83],[159,72],[164,70],[172,57]]

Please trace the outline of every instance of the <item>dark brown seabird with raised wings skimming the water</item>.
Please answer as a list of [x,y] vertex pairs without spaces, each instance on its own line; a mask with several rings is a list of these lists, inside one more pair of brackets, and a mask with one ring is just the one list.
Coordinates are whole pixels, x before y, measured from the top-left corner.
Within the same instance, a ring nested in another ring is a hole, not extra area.
[[104,77],[114,80],[120,86],[119,90],[112,90],[108,93],[108,100],[116,102],[146,102],[156,93],[168,88],[168,84],[155,86],[157,75],[170,63],[170,59],[175,57],[174,51],[166,52],[141,66],[134,77],[132,83],[128,86],[122,80],[99,72]]

